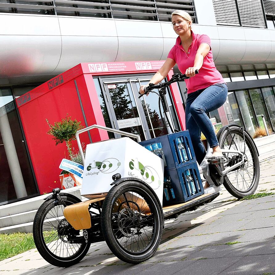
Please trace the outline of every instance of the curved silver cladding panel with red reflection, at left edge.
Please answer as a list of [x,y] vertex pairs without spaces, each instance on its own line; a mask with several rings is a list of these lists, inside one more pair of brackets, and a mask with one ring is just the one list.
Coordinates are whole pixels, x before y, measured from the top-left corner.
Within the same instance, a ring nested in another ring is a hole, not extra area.
[[61,37],[0,35],[0,48],[0,77],[51,74],[60,59]]

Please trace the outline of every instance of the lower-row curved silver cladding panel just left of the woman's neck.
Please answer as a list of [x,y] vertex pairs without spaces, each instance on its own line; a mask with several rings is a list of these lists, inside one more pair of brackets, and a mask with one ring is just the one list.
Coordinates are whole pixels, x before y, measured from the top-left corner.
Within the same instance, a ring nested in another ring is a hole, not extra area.
[[161,60],[162,38],[118,37],[118,53],[115,61]]

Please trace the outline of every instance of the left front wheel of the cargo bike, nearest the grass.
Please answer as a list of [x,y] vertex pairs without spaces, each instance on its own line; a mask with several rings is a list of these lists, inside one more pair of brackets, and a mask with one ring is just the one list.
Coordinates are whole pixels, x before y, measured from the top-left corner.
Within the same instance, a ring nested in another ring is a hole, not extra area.
[[64,217],[66,206],[81,202],[67,194],[45,201],[36,212],[33,222],[33,238],[40,255],[51,265],[68,267],[81,261],[90,248],[83,231],[75,230]]

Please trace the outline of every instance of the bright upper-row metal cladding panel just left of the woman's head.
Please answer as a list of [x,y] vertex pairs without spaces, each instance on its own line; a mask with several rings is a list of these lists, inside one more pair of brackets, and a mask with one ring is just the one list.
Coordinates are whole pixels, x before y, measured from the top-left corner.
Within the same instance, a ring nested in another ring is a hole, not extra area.
[[[116,19],[118,37],[161,37],[162,28],[158,21],[130,21]],[[173,30],[173,29],[172,29]]]

